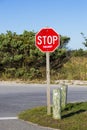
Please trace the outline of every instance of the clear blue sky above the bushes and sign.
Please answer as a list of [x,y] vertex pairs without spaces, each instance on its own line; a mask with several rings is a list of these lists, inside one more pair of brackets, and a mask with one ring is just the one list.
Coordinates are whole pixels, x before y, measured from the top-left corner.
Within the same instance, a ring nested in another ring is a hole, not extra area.
[[81,32],[87,37],[87,0],[0,0],[0,34],[44,27],[70,37],[69,49],[86,49]]

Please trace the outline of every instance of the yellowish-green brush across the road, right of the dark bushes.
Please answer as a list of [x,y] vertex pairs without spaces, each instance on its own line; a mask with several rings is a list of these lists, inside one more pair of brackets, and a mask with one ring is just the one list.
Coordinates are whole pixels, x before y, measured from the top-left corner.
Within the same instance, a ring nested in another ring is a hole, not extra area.
[[71,57],[56,75],[57,79],[87,80],[87,57]]

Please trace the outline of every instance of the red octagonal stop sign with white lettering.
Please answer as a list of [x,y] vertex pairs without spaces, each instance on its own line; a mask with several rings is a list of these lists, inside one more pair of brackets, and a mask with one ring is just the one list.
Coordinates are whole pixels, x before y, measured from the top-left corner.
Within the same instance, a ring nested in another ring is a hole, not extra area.
[[42,52],[53,52],[60,45],[60,36],[52,28],[43,28],[35,36],[35,45]]

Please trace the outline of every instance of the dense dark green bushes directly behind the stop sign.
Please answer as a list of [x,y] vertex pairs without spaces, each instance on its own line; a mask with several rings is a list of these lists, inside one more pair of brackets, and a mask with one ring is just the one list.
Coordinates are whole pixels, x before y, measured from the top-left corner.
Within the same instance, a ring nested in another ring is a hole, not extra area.
[[[0,77],[33,79],[45,77],[45,53],[35,47],[35,32],[23,34],[7,31],[0,34]],[[51,53],[51,68],[59,69],[68,60],[66,45],[70,38],[61,36],[61,46]]]

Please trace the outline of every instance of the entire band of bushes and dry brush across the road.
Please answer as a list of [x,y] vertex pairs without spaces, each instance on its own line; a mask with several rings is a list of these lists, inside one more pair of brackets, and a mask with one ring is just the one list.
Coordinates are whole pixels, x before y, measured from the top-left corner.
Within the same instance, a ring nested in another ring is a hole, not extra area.
[[[0,34],[0,79],[45,81],[46,56],[35,46],[35,32]],[[83,33],[83,44],[87,38]],[[70,37],[60,35],[60,47],[50,53],[51,80],[87,80],[87,51],[69,50]]]

